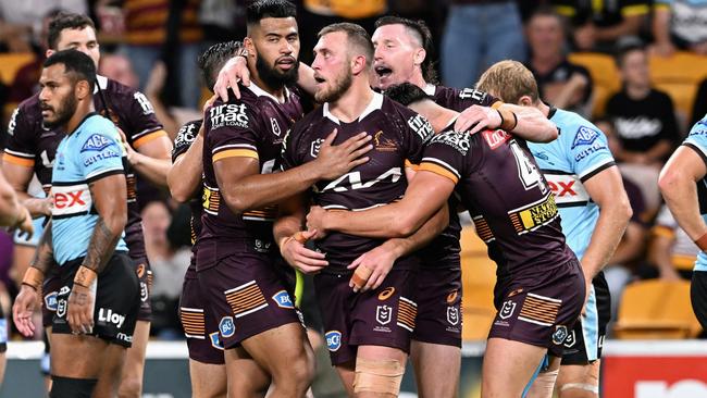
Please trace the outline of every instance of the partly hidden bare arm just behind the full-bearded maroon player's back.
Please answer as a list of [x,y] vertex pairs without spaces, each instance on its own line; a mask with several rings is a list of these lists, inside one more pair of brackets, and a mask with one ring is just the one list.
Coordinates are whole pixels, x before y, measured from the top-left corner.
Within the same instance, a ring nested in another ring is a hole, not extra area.
[[179,202],[188,201],[201,186],[202,152],[203,124],[187,151],[174,160],[168,173],[166,182],[174,200]]

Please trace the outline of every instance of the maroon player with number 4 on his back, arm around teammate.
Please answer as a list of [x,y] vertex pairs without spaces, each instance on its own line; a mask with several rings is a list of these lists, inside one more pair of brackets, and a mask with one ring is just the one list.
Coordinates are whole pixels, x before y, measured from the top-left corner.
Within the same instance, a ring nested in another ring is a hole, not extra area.
[[554,196],[522,139],[500,129],[454,132],[458,113],[412,84],[386,94],[410,104],[439,132],[405,196],[356,213],[313,207],[308,225],[320,233],[407,236],[458,185],[461,204],[498,265],[498,313],[484,356],[482,397],[519,397],[547,351],[561,356],[584,299],[582,271],[565,244]]

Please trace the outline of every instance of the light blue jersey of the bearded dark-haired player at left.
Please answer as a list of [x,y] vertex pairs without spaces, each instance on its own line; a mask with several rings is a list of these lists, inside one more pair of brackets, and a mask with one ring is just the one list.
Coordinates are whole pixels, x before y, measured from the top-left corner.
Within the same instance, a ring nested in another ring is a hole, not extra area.
[[[63,265],[86,256],[98,221],[88,185],[112,174],[125,173],[125,150],[115,125],[89,113],[57,148],[51,176],[54,260]],[[127,251],[121,236],[115,250]]]

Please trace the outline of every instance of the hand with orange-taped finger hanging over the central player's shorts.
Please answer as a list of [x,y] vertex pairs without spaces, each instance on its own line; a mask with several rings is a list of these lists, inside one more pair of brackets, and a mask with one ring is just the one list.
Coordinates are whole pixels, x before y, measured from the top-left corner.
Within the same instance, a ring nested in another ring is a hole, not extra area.
[[397,257],[385,245],[361,254],[347,266],[349,270],[356,269],[348,285],[354,288],[354,291],[376,289],[393,269],[395,260]]

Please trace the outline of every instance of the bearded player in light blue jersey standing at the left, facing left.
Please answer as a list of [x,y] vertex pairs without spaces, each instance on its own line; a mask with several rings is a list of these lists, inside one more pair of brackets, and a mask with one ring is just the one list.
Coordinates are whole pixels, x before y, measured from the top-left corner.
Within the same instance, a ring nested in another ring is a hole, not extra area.
[[[94,60],[73,49],[44,64],[38,100],[42,123],[69,132],[57,147],[52,220],[13,307],[17,329],[34,334],[45,275],[59,264],[61,288],[52,320],[51,397],[90,397],[99,375],[115,396],[140,306],[139,284],[124,228],[125,151],[115,125],[94,110]],[[99,277],[100,276],[100,277]],[[101,374],[102,373],[102,374]]]

